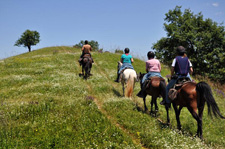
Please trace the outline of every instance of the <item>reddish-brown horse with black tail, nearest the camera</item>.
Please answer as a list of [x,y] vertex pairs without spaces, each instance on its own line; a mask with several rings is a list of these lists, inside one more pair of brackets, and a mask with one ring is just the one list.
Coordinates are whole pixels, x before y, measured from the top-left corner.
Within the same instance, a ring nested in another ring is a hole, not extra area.
[[[208,114],[212,117],[212,113],[215,117],[220,117],[225,119],[220,113],[217,103],[213,97],[210,86],[205,82],[187,82],[179,90],[177,98],[172,101],[173,108],[176,114],[177,128],[181,130],[180,123],[180,112],[183,107],[187,107],[189,112],[192,114],[194,119],[197,121],[198,129],[197,136],[203,138],[202,136],[202,116],[205,106],[205,102],[208,106]],[[179,106],[179,108],[178,108]],[[197,113],[198,112],[198,113]],[[169,114],[167,111],[167,120],[169,119]]]

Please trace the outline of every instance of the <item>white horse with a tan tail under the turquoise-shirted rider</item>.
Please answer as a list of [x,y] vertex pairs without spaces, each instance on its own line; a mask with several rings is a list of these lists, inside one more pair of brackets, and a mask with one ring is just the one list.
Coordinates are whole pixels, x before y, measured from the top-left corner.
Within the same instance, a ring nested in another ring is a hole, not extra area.
[[[118,70],[122,66],[121,62],[118,62]],[[125,69],[121,76],[121,84],[123,89],[123,96],[131,97],[133,94],[135,82],[137,82],[137,73],[133,69]]]

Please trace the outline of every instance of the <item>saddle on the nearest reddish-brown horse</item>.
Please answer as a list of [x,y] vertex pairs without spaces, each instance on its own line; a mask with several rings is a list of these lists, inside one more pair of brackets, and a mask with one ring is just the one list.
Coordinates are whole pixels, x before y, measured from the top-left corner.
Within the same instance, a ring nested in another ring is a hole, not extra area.
[[181,89],[181,87],[188,82],[191,82],[190,78],[188,77],[181,77],[177,79],[176,84],[169,90],[169,99],[171,101],[175,100],[177,98],[179,89]]

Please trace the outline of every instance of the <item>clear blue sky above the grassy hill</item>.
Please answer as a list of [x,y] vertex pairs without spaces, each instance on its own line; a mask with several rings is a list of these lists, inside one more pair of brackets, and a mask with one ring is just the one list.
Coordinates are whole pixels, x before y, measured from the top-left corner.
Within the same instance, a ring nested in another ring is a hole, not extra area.
[[27,29],[40,33],[32,50],[95,40],[104,51],[128,47],[145,58],[166,37],[165,14],[176,6],[225,22],[224,0],[0,0],[0,59],[28,52],[14,46]]

